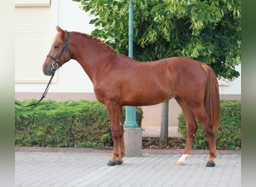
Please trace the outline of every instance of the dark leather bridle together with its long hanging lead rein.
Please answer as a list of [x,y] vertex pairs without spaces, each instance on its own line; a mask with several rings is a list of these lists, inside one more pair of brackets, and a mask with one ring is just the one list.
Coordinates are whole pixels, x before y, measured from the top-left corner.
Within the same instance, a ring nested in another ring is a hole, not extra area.
[[[41,98],[37,102],[31,103],[30,105],[22,105],[19,102],[15,102],[15,105],[19,105],[19,106],[22,106],[22,107],[30,107],[28,109],[28,111],[30,111],[30,110],[34,109],[39,104],[39,102],[41,100],[43,100],[43,98],[46,96],[46,93],[49,90],[49,85],[52,82],[52,78],[53,78],[53,76],[55,74],[55,71],[58,69],[58,67],[61,67],[60,58],[61,58],[62,55],[65,54],[67,48],[68,48],[68,50],[70,52],[70,58],[72,57],[72,53],[71,53],[70,48],[68,46],[68,39],[69,39],[69,37],[70,37],[70,33],[67,31],[67,37],[64,40],[64,45],[62,46],[61,53],[60,53],[60,55],[58,55],[58,58],[55,58],[55,57],[53,57],[52,55],[49,55],[49,54],[47,55],[47,57],[51,58],[54,62],[52,63],[52,67],[51,67],[51,71],[52,71],[51,79],[49,79],[48,85],[46,86],[46,90],[43,92],[43,95],[41,96]],[[64,59],[65,59],[65,57],[64,57]],[[16,108],[16,107],[15,107],[15,109],[16,110],[20,110],[20,108]]]

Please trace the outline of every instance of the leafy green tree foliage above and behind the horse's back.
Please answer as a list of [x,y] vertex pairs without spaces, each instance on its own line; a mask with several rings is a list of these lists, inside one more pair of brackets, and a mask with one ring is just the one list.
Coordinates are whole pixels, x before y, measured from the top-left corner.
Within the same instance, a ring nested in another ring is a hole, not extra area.
[[[128,55],[127,0],[73,0],[95,16],[92,35]],[[241,1],[134,0],[134,58],[186,56],[234,79],[240,64]]]

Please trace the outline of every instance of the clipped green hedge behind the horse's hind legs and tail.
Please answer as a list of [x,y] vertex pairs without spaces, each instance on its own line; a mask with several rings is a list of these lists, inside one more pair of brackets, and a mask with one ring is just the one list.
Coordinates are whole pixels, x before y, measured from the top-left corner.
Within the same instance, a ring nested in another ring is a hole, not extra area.
[[[197,121],[198,122],[198,121]],[[186,138],[186,123],[183,114],[179,117],[179,132]],[[221,120],[215,132],[217,150],[241,150],[241,102],[221,101]],[[208,149],[207,137],[198,123],[193,149]]]

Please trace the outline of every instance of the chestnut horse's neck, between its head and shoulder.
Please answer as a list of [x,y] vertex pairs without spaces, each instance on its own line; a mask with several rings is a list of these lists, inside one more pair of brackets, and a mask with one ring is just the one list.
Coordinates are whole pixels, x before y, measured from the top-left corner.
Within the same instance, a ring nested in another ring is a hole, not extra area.
[[115,60],[116,53],[89,36],[79,35],[75,39],[79,42],[74,45],[73,57],[94,83],[99,73],[104,74],[104,71],[108,70]]

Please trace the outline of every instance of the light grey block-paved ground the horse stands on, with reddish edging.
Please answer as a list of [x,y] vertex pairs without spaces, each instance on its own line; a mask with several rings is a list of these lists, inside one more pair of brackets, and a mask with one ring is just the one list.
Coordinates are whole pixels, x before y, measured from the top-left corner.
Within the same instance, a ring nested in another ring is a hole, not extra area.
[[186,165],[175,165],[181,150],[144,150],[106,165],[112,150],[31,149],[15,152],[16,186],[241,186],[240,152],[221,152],[206,168],[207,152],[193,151]]

